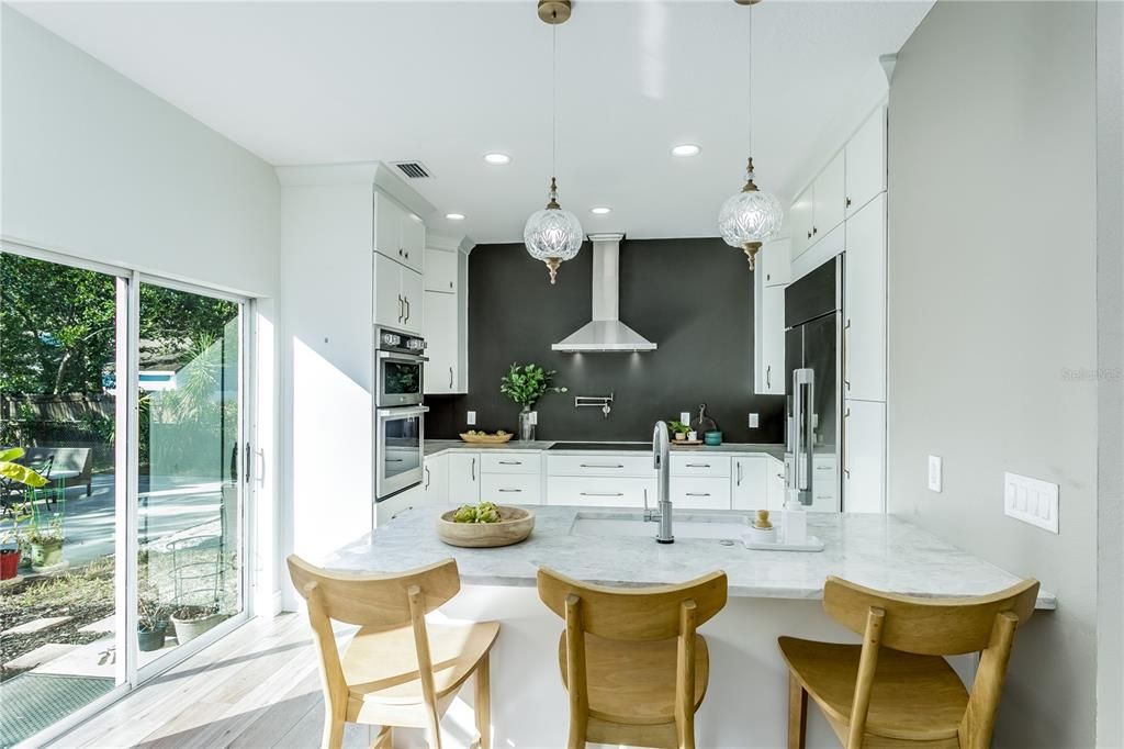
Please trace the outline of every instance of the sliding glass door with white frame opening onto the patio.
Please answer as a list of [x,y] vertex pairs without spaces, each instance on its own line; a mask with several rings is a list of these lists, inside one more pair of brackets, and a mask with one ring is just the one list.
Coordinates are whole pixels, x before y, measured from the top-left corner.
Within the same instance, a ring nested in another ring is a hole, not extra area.
[[15,250],[0,450],[46,482],[0,477],[0,746],[221,637],[248,579],[248,301]]

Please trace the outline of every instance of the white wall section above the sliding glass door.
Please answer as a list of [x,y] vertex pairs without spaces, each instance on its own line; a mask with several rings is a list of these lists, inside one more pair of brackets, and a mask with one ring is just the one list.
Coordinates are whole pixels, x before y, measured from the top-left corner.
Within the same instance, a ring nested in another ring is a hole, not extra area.
[[273,169],[8,6],[4,238],[272,296]]

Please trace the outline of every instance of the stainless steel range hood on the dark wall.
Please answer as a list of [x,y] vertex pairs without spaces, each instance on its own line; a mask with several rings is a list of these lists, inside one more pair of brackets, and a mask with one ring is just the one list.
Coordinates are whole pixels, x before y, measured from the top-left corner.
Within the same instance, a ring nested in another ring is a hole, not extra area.
[[624,234],[590,234],[593,243],[593,319],[551,346],[554,351],[655,351],[655,344],[620,322],[619,265]]

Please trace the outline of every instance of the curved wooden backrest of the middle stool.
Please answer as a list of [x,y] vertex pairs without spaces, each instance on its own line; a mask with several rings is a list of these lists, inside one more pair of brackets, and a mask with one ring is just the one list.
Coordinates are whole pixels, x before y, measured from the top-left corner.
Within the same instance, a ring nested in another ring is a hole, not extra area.
[[538,570],[538,597],[562,619],[568,599],[581,602],[581,629],[607,640],[670,640],[682,634],[682,605],[691,602],[695,625],[726,605],[726,574],[711,572],[682,585],[609,588],[587,585],[546,568]]

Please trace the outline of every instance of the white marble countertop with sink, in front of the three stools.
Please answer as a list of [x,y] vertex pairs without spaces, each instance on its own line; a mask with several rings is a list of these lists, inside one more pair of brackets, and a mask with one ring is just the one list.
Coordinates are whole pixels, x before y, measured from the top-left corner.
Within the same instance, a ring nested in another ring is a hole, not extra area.
[[[751,551],[741,543],[678,539],[659,544],[647,538],[571,534],[582,517],[638,517],[635,511],[537,505],[535,530],[523,543],[500,549],[460,549],[437,538],[434,521],[448,506],[418,507],[360,541],[325,565],[339,569],[395,572],[456,559],[465,585],[535,585],[541,566],[604,585],[682,583],[715,569],[729,577],[729,595],[760,598],[821,598],[828,575],[904,595],[954,597],[982,595],[1019,578],[946,541],[886,515],[812,514],[808,533],[824,541],[822,552]],[[683,511],[676,518],[709,517],[728,522],[746,513]],[[653,525],[654,533],[654,525]],[[1054,596],[1039,593],[1039,608],[1054,608]]]

